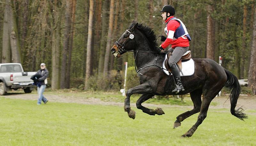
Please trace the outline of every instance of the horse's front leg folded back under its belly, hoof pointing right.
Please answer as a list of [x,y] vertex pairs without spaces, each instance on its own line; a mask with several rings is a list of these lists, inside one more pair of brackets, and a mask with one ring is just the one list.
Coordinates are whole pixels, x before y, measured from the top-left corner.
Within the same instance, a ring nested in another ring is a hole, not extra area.
[[141,109],[143,113],[147,113],[148,115],[163,115],[164,111],[161,108],[156,108],[156,110],[154,109],[149,109],[146,107],[143,107],[141,105],[141,103],[143,103],[144,101],[147,101],[148,99],[150,99],[151,97],[153,97],[154,95],[148,95],[148,94],[142,94],[140,96],[140,98],[138,99],[138,101],[136,102],[136,106],[138,109]]

